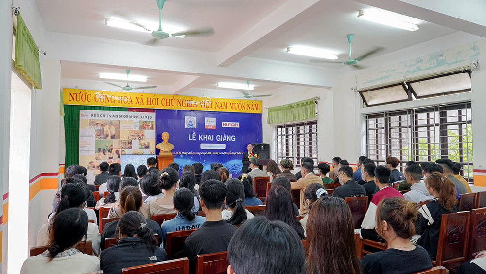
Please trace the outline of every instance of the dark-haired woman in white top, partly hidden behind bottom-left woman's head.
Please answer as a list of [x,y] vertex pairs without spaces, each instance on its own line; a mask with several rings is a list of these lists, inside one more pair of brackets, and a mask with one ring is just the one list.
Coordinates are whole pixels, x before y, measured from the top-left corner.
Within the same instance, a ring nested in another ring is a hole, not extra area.
[[[49,230],[52,229],[52,223],[55,216],[69,208],[86,209],[88,191],[89,190],[83,183],[67,183],[61,188],[61,200],[57,206],[57,211],[52,213],[49,216],[47,223],[40,227],[39,235],[37,237],[37,246],[49,244]],[[87,227],[86,240],[91,241],[93,254],[98,256],[100,255],[100,232],[98,226],[93,222],[89,222],[87,223]]]

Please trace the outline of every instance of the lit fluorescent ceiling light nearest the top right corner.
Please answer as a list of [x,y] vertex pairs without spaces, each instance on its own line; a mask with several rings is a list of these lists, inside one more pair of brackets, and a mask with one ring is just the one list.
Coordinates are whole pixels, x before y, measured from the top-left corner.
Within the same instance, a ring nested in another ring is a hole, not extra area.
[[379,9],[360,10],[358,18],[407,31],[417,31],[420,23],[416,18]]

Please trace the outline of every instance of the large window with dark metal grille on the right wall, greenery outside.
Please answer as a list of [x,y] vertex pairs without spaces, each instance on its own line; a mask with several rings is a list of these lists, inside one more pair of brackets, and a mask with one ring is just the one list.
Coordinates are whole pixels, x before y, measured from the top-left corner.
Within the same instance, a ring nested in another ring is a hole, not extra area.
[[366,115],[366,153],[377,164],[386,156],[435,162],[449,158],[462,164],[461,175],[473,182],[471,103],[436,105]]

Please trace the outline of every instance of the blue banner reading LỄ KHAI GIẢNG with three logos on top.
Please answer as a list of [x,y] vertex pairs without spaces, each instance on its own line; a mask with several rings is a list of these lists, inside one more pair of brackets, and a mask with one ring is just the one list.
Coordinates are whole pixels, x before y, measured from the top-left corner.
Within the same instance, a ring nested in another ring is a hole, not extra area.
[[241,173],[246,146],[262,140],[260,113],[155,110],[155,114],[156,144],[167,131],[169,143],[174,145],[174,162],[181,170],[195,162],[201,162],[207,170],[219,162],[236,177]]

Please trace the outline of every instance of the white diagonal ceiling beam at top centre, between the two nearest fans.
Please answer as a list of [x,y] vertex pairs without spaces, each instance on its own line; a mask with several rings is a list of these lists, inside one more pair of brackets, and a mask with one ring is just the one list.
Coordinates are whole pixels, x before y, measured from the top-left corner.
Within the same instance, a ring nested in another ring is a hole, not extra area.
[[229,66],[304,20],[333,0],[289,0],[218,52],[217,65]]

